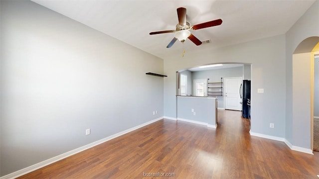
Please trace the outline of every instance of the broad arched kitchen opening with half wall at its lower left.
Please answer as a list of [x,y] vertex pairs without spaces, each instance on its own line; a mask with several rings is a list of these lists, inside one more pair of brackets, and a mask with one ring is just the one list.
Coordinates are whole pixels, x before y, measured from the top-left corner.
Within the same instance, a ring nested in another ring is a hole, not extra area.
[[[215,123],[209,120],[205,120],[205,119],[199,120],[197,116],[195,116],[196,110],[194,109],[198,107],[195,104],[196,103],[198,104],[198,102],[194,101],[194,98],[201,97],[200,100],[202,100],[202,97],[206,96],[206,97],[215,97],[218,101],[215,104],[216,112],[212,115],[215,115],[215,114],[217,115],[217,109],[218,110],[229,109],[227,107],[227,104],[229,104],[229,102],[227,101],[232,101],[234,104],[238,104],[236,105],[237,107],[239,106],[237,109],[238,111],[244,111],[242,109],[243,107],[245,107],[245,116],[243,117],[249,120],[250,105],[249,106],[247,105],[247,101],[248,101],[247,97],[244,99],[244,96],[243,96],[243,93],[244,93],[243,82],[249,81],[249,97],[248,98],[250,101],[251,99],[250,81],[252,79],[252,64],[214,63],[214,64],[204,64],[200,67],[204,67],[204,66],[205,68],[201,68],[201,69],[199,69],[198,67],[193,67],[188,69],[182,69],[176,72],[176,119],[193,122],[193,123],[204,124],[204,125],[206,125],[207,123],[208,124],[207,126],[214,126],[213,128],[216,128],[217,123],[215,125]],[[231,79],[231,80],[240,79],[238,89],[236,90],[234,89],[234,91],[238,93],[237,100],[233,100],[233,98],[230,98],[229,95],[225,93],[225,89],[226,89],[226,85],[224,83],[225,79]],[[198,84],[198,86],[200,86],[201,88],[198,87],[197,89],[196,84]],[[199,94],[202,94],[202,95],[199,95]],[[188,99],[192,99],[191,103],[194,104],[195,107],[192,105],[183,107],[184,105],[187,104],[187,101],[184,101],[186,100],[185,97]],[[246,103],[243,104],[244,102]],[[209,110],[213,110],[213,109],[211,108]],[[231,110],[236,110],[236,109],[231,109]],[[185,113],[187,113],[187,115]],[[240,112],[239,114],[244,115],[244,113],[242,112]],[[215,118],[217,118],[217,116]]]

